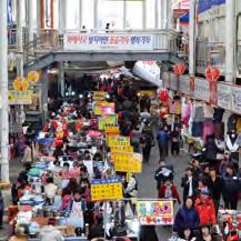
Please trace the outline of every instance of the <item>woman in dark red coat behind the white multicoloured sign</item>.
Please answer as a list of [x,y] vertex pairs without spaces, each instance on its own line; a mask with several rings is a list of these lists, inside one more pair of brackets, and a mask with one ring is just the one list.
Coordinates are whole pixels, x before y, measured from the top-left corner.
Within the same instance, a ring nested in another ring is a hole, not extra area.
[[177,187],[168,179],[164,184],[160,187],[159,199],[177,199],[179,204],[181,203],[180,195],[178,193]]

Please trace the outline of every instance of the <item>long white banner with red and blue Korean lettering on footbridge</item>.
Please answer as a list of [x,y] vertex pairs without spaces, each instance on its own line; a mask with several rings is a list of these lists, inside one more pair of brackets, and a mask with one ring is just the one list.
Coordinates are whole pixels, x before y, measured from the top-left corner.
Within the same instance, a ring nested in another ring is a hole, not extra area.
[[86,34],[66,33],[63,38],[64,50],[98,51],[98,50],[125,50],[140,51],[153,50],[152,34]]

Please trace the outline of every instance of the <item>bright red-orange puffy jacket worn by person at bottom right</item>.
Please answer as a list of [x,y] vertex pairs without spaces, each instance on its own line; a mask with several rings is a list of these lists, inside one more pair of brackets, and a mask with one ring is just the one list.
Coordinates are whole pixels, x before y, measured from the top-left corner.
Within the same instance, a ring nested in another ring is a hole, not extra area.
[[195,200],[195,209],[199,213],[200,225],[217,224],[215,208],[214,208],[212,199],[202,200],[201,198],[198,198]]

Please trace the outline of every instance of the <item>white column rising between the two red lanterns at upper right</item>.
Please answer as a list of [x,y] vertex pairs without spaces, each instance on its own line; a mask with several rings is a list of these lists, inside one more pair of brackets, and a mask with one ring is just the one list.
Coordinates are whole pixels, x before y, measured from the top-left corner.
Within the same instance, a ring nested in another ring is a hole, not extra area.
[[189,74],[195,76],[195,0],[190,0]]

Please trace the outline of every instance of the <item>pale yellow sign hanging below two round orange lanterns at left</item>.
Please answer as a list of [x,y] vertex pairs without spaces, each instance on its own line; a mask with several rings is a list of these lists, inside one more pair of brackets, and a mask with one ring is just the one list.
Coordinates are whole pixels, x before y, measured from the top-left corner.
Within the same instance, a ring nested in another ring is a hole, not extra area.
[[9,90],[9,104],[31,104],[32,91]]

